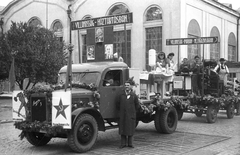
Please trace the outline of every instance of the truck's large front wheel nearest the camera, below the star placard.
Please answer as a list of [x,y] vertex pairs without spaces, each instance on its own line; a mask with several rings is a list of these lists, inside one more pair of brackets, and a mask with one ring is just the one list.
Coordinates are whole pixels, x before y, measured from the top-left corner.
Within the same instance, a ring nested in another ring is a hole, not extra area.
[[97,122],[89,114],[81,114],[68,135],[68,144],[76,152],[86,152],[90,150],[98,136]]

